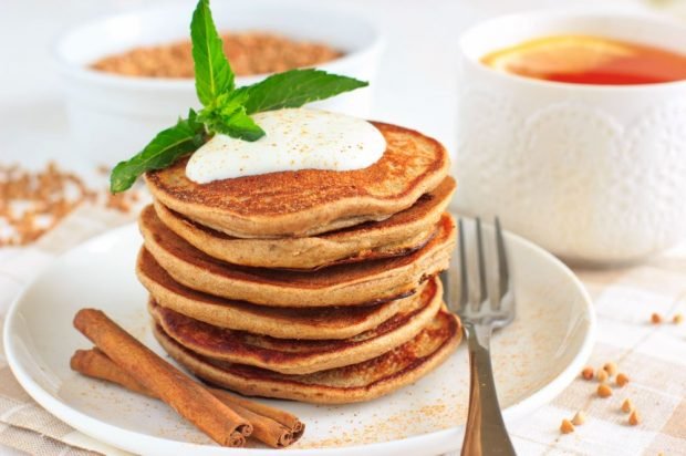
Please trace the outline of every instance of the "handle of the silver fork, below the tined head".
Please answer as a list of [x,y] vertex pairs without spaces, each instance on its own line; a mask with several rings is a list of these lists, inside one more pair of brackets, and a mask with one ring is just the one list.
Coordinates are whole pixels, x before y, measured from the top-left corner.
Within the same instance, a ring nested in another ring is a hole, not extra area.
[[469,350],[469,414],[462,456],[517,455],[498,404],[490,362],[491,329],[465,325]]

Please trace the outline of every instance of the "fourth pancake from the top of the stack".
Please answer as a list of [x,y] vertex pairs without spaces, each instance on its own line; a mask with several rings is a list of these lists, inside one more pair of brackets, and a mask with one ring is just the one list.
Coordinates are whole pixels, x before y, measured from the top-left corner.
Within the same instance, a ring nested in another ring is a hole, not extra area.
[[215,327],[282,339],[347,339],[368,331],[414,305],[417,293],[374,305],[274,308],[230,301],[176,282],[153,256],[141,250],[136,273],[156,303]]

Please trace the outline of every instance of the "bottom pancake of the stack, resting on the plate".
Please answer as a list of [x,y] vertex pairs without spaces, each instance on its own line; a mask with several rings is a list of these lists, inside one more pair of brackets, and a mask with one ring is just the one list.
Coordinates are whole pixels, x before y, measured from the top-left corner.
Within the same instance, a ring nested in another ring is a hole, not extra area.
[[198,377],[250,396],[319,404],[370,401],[416,382],[455,350],[459,320],[445,309],[413,340],[362,363],[306,375],[285,375],[260,367],[215,361],[185,349],[158,325],[155,336],[179,364]]

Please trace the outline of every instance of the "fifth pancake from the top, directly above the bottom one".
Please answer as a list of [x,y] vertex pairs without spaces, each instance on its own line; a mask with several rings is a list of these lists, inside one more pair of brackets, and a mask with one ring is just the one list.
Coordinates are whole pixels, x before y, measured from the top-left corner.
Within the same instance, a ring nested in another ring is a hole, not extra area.
[[371,360],[409,341],[434,319],[440,309],[441,293],[440,281],[433,278],[414,305],[344,340],[274,339],[232,331],[190,319],[153,300],[148,310],[168,336],[195,353],[283,374],[309,374]]

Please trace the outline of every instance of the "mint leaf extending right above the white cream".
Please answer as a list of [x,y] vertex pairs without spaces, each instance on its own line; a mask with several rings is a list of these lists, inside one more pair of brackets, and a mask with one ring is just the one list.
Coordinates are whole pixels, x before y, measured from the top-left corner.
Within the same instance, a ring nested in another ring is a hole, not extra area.
[[248,94],[246,112],[253,114],[283,107],[300,107],[305,103],[329,99],[343,92],[370,85],[354,77],[326,73],[322,70],[291,70],[273,74],[256,84],[239,87]]

